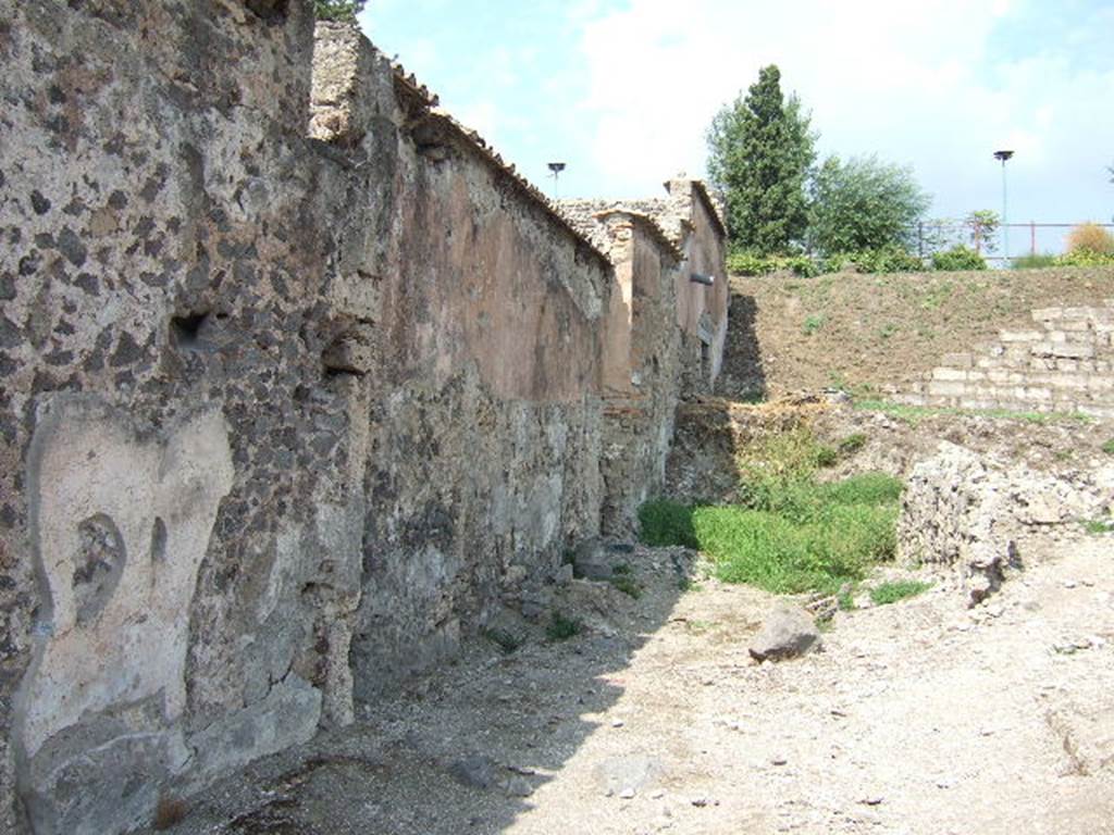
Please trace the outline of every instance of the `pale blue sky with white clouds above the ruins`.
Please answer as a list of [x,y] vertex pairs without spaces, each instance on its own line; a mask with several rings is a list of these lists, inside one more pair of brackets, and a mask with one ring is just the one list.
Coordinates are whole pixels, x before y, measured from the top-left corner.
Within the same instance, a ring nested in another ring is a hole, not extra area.
[[934,216],[1000,210],[999,147],[1010,219],[1114,216],[1114,0],[371,0],[361,24],[547,193],[557,159],[561,196],[703,175],[709,121],[776,63],[821,155],[911,165]]

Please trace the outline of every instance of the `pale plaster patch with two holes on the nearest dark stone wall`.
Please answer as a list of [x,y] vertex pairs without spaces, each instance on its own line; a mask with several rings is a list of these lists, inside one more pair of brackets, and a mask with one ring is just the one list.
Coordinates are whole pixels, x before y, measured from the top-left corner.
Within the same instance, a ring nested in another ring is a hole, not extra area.
[[190,601],[233,474],[218,411],[165,440],[89,399],[40,414],[29,495],[49,608],[21,699],[26,756],[86,715],[160,692],[165,720],[182,714]]

